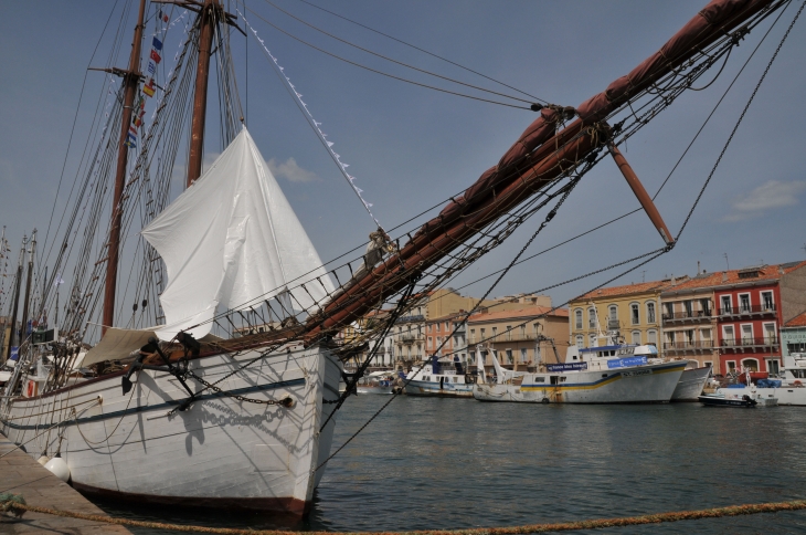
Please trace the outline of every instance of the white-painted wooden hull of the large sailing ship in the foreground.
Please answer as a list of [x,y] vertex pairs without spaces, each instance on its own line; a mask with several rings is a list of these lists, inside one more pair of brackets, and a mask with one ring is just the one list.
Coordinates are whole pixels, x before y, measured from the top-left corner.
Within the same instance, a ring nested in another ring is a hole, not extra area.
[[[203,357],[191,360],[190,369],[214,382],[259,354]],[[330,451],[335,419],[321,433],[319,428],[335,405],[322,399],[338,398],[340,370],[326,349],[284,347],[218,386],[252,399],[290,397],[291,407],[240,402],[205,390],[172,416],[168,412],[188,398],[172,375],[139,371],[123,395],[121,375],[115,374],[14,400],[2,430],[21,443],[63,422],[25,448],[34,459],[43,451],[52,455],[61,429],[61,454],[73,485],[86,494],[303,515],[324,472],[314,470]],[[193,379],[188,382],[202,389]]]

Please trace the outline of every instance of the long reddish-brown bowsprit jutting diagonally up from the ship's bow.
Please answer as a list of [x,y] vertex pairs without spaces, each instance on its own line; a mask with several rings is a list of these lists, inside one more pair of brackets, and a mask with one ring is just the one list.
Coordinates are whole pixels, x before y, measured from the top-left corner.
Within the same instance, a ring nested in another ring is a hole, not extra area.
[[[530,148],[533,150],[531,154],[497,169],[497,176],[485,182],[488,186],[482,185],[481,191],[475,191],[469,199],[452,202],[443,213],[423,225],[399,254],[356,281],[356,284],[327,304],[322,313],[311,316],[306,338],[312,340],[325,331],[349,325],[369,312],[374,303],[404,287],[409,277],[423,273],[464,240],[548,186],[564,169],[574,166],[601,143],[606,141],[594,139],[606,136],[592,136],[585,128],[601,124],[609,113],[633,96],[674,72],[754,14],[768,9],[771,4],[782,6],[774,0],[711,1],[659,51],[629,74],[614,81],[604,92],[577,106],[579,119],[563,130],[541,138],[537,149]],[[743,31],[740,31],[734,40],[743,35]],[[532,126],[537,123],[535,120]]]

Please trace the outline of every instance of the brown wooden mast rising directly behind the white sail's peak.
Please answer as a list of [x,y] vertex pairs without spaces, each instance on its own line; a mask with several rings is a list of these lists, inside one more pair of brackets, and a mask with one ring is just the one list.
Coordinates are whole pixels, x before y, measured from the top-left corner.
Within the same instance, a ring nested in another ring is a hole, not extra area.
[[188,187],[201,176],[204,157],[204,122],[206,119],[208,81],[210,74],[210,55],[213,46],[213,34],[219,0],[204,0],[199,13],[199,60],[195,69],[195,91],[193,93],[193,119],[190,128],[190,154],[188,155]]

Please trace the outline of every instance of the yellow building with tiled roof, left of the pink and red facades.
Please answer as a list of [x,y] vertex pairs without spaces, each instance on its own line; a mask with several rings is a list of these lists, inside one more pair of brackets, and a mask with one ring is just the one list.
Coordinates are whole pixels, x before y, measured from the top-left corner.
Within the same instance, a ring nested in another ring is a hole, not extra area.
[[604,287],[569,302],[569,343],[601,346],[607,343],[601,335],[617,331],[626,344],[660,347],[660,293],[687,279]]

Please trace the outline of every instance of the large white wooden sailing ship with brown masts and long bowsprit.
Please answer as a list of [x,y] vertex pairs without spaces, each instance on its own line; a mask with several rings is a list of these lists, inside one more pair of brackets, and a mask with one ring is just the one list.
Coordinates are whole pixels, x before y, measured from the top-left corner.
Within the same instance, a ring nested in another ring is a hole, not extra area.
[[[162,34],[156,32],[141,70],[144,21],[148,11],[148,20],[168,24],[159,7],[169,4],[195,18],[160,86]],[[438,216],[394,239],[379,228],[365,254],[335,265],[320,260],[240,122],[227,29],[240,29],[238,17],[220,0],[153,1],[148,10],[141,0],[128,67],[102,69],[123,84],[95,133],[102,143],[57,244],[61,264],[43,285],[45,308],[59,295],[55,277],[73,270],[67,314],[54,339],[20,345],[0,429],[36,459],[61,459],[73,486],[88,495],[305,514],[330,454],[337,410],[361,375],[344,375],[342,363],[372,358],[377,340],[418,295],[532,216],[544,213],[548,223],[601,159],[616,159],[665,248],[674,245],[617,147],[786,6],[714,0],[604,92],[576,107],[531,105],[538,118]],[[213,51],[229,145],[202,174]],[[144,103],[153,94],[159,104],[146,126]],[[166,185],[187,114],[187,190],[169,204]],[[104,206],[109,225],[98,231],[105,237],[98,250],[95,234],[82,238],[74,221],[100,228]],[[141,231],[131,249],[142,266],[123,328],[118,268],[135,219]],[[392,312],[349,339],[339,336],[384,303],[393,303]],[[91,318],[102,310],[103,337],[87,350]],[[131,328],[134,319],[146,327]],[[88,377],[76,371],[78,359],[92,369]],[[344,395],[341,377],[349,382]]]

